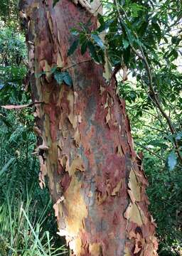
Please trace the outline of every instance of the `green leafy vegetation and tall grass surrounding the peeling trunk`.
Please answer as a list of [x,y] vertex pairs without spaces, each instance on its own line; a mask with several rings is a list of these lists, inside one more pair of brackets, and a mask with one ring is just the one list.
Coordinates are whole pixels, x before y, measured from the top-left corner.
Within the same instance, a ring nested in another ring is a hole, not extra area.
[[[70,48],[103,63],[107,50],[143,154],[159,255],[182,255],[182,75],[180,1],[105,1],[100,28],[73,28]],[[0,3],[0,105],[31,102],[27,50],[16,0]],[[105,42],[100,36],[106,33]],[[63,241],[48,188],[38,186],[32,108],[0,109],[0,255],[60,255]],[[54,238],[52,238],[54,235]],[[51,239],[52,238],[52,239]],[[56,248],[56,249],[55,249]]]

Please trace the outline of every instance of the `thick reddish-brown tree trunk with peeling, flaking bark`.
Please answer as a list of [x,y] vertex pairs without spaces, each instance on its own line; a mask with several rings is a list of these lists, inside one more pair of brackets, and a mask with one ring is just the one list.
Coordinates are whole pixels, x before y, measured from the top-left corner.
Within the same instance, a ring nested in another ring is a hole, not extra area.
[[[43,186],[48,176],[59,234],[71,255],[156,255],[147,181],[114,75],[107,82],[106,68],[79,48],[68,57],[70,29],[92,14],[70,0],[54,8],[51,0],[21,0],[20,11],[33,100],[42,102],[35,112],[39,180]],[[91,20],[95,28],[97,18]],[[54,80],[56,65],[68,70],[72,87]]]

